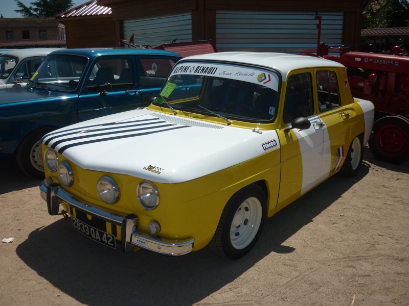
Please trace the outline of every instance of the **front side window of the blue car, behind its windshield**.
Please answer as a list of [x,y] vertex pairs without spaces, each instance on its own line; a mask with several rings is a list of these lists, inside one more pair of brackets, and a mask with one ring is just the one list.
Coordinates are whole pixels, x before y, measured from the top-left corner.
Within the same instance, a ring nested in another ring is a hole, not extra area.
[[88,77],[87,86],[109,83],[112,89],[133,87],[133,64],[131,59],[101,59],[97,61]]

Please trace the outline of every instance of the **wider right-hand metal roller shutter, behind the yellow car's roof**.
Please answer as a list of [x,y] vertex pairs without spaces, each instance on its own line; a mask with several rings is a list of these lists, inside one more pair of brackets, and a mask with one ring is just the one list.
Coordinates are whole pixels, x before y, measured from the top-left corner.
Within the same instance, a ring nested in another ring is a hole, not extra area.
[[[343,13],[322,16],[321,42],[342,44]],[[216,11],[216,48],[222,51],[316,52],[315,12]]]

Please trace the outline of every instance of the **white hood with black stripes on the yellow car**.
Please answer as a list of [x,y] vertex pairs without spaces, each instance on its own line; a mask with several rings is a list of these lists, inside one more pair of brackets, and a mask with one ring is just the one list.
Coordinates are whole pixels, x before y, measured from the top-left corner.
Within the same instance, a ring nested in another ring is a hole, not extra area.
[[279,147],[276,131],[133,110],[66,126],[43,137],[81,168],[180,183]]

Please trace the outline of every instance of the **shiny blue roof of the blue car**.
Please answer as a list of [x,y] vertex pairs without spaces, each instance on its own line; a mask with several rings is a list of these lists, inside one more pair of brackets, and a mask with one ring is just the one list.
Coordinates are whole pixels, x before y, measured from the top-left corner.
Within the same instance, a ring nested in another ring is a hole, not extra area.
[[71,54],[82,55],[89,58],[95,58],[101,55],[164,55],[181,57],[179,54],[157,49],[146,48],[73,48],[73,49],[61,49],[53,52],[52,54]]

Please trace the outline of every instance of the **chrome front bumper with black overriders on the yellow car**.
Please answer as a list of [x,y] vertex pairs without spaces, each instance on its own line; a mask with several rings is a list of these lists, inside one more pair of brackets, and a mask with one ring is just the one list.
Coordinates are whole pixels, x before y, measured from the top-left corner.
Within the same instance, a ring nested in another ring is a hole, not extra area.
[[158,254],[179,256],[193,250],[194,239],[166,240],[158,237],[143,236],[138,232],[138,217],[135,215],[121,216],[116,212],[96,207],[91,203],[77,200],[73,195],[64,191],[57,184],[51,186],[40,185],[41,197],[47,201],[50,215],[58,215],[60,204],[65,203],[85,214],[115,224],[121,227],[121,249],[132,252],[140,247]]

